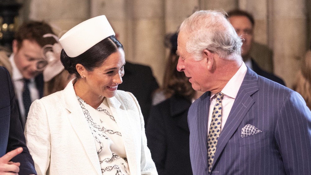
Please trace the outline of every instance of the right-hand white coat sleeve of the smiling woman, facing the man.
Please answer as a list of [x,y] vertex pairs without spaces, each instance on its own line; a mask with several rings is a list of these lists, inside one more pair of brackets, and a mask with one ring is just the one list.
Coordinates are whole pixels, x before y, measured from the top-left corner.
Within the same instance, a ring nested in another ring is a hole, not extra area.
[[132,93],[129,93],[134,99],[136,106],[139,111],[139,117],[141,122],[141,131],[142,131],[142,145],[141,145],[141,174],[142,175],[157,175],[156,165],[151,159],[151,153],[147,147],[147,138],[145,133],[145,122],[144,117],[142,116],[142,111],[140,110],[139,104]]

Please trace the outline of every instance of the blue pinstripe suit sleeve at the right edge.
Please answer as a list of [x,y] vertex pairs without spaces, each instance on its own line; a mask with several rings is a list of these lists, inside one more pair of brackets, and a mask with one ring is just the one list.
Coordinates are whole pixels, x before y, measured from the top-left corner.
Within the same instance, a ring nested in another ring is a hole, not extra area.
[[281,107],[275,137],[286,174],[311,174],[311,112],[294,91]]

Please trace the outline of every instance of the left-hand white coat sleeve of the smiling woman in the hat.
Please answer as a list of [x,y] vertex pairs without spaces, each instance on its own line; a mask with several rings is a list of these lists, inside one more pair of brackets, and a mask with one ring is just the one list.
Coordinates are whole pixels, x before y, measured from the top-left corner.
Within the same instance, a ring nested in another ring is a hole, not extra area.
[[46,174],[50,163],[51,139],[47,113],[40,100],[35,100],[30,106],[25,136],[38,175]]

